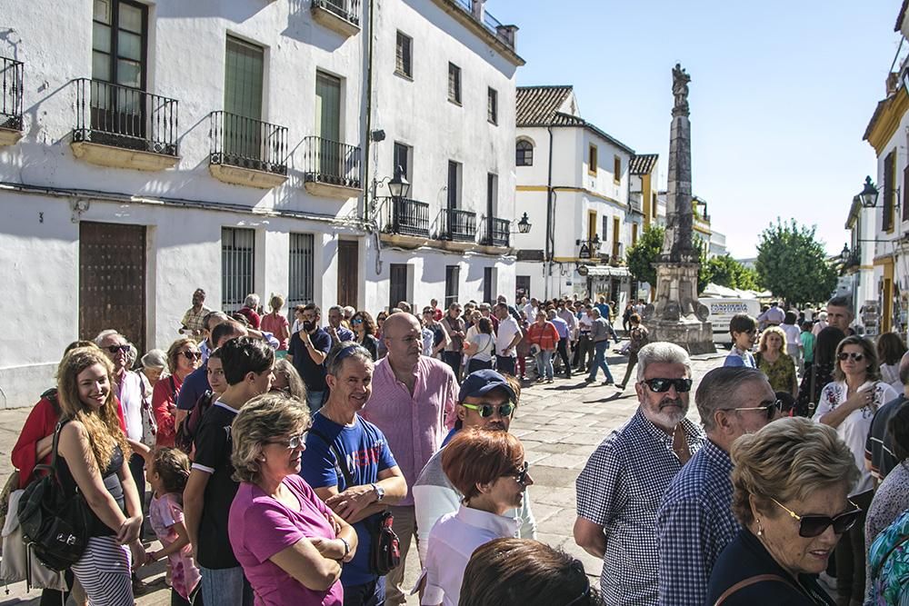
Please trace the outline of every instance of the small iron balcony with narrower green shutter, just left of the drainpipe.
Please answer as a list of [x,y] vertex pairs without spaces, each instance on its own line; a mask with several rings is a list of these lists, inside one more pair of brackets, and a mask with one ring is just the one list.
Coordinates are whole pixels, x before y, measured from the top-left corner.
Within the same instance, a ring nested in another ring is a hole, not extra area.
[[341,200],[359,194],[359,147],[323,137],[306,137],[303,144],[307,192]]

